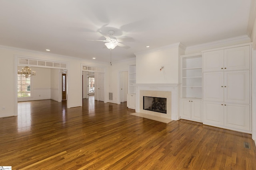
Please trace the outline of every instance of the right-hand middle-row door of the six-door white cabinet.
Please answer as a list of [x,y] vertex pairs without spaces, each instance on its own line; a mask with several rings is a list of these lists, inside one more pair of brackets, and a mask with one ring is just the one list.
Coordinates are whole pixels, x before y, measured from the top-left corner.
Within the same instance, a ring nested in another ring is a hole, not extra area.
[[224,102],[250,104],[250,70],[224,72]]

